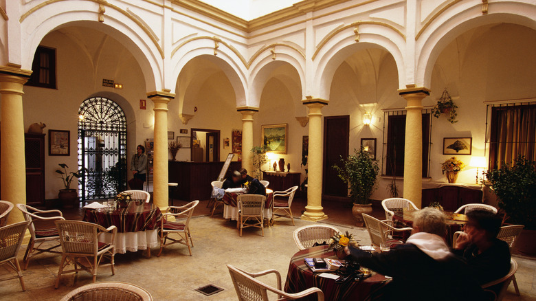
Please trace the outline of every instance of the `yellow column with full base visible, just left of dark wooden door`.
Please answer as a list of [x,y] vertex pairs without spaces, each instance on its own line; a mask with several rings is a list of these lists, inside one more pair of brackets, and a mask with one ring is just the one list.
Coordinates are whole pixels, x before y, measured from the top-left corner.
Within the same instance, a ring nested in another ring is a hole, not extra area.
[[302,102],[309,108],[309,174],[307,205],[301,219],[321,221],[328,218],[322,212],[322,108],[329,101],[307,96]]

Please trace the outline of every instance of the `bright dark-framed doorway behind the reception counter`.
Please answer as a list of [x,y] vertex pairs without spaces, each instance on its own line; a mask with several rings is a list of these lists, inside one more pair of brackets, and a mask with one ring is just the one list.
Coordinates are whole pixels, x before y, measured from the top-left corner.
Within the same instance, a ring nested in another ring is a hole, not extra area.
[[194,162],[220,161],[220,130],[192,129],[191,158]]

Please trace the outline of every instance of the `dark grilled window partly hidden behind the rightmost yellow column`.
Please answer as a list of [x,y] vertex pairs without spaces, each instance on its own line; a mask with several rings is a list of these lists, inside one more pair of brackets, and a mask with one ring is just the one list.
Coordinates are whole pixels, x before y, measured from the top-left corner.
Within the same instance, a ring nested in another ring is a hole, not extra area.
[[[392,114],[390,114],[392,113]],[[405,153],[405,111],[386,112],[387,135],[384,134],[383,175],[403,177]],[[428,177],[429,145],[430,145],[429,113],[423,113],[423,177]],[[385,133],[385,129],[384,129]]]

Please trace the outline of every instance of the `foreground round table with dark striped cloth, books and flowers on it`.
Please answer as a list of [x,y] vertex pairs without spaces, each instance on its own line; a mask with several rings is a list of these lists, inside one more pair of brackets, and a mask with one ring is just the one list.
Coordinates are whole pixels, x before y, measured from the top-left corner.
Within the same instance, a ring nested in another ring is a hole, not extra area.
[[[381,289],[390,279],[381,274],[372,272],[372,276],[360,281],[348,281],[337,284],[331,278],[318,276],[321,273],[313,273],[304,262],[304,258],[337,258],[333,250],[328,250],[327,245],[320,245],[304,249],[292,256],[287,281],[284,284],[284,291],[287,293],[298,293],[311,287],[318,287],[324,292],[325,300],[366,300],[371,293]],[[316,296],[300,300],[316,300]]]

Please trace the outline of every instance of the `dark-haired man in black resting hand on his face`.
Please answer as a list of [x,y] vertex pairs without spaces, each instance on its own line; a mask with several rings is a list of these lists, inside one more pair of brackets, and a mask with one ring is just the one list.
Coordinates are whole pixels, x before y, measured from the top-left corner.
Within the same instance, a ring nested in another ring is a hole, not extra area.
[[497,238],[500,217],[486,210],[472,210],[467,218],[469,221],[456,240],[454,254],[467,261],[480,285],[502,278],[510,271],[510,248]]

